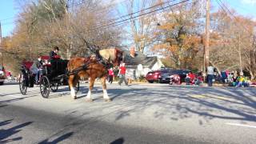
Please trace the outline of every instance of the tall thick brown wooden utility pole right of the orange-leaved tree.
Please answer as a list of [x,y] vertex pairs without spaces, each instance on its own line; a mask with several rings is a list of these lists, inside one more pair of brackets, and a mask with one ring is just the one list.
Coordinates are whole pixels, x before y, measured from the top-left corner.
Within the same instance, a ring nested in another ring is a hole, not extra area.
[[209,38],[210,38],[210,0],[206,0],[206,42],[205,42],[205,67],[209,66]]

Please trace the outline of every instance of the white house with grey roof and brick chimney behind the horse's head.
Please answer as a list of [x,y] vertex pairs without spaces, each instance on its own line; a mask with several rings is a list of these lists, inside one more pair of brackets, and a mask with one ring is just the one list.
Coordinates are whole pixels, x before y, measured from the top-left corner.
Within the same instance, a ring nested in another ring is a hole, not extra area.
[[124,62],[126,63],[126,76],[131,79],[146,76],[149,71],[164,67],[160,58],[147,57],[142,52],[135,52],[133,47],[124,51]]

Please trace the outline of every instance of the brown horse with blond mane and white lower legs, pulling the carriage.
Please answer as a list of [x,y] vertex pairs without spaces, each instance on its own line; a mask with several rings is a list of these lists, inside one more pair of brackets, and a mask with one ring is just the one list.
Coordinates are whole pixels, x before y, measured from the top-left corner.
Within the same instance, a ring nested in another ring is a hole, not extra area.
[[77,70],[79,67],[86,66],[86,70],[81,70],[77,74],[70,75],[69,85],[71,97],[76,99],[74,86],[77,85],[80,78],[90,78],[90,87],[86,96],[86,101],[91,102],[91,91],[94,87],[96,78],[101,78],[103,88],[103,98],[109,102],[110,97],[106,92],[106,77],[108,72],[107,65],[118,66],[122,61],[122,50],[117,48],[99,50],[98,55],[89,58],[72,58],[67,65],[70,72]]

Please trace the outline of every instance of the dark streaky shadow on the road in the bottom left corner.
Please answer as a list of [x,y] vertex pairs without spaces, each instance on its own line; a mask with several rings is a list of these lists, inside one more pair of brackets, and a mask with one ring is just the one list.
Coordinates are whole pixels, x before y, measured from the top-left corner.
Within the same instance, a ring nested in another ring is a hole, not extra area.
[[[6,125],[10,124],[12,121],[13,121],[13,119],[0,122],[0,126],[6,126]],[[7,142],[14,142],[14,141],[22,140],[22,137],[17,137],[17,138],[10,138],[10,137],[14,137],[15,134],[22,131],[21,129],[23,127],[28,126],[31,123],[33,123],[33,122],[25,122],[18,126],[14,126],[10,129],[1,129],[0,130],[0,143],[7,143]]]

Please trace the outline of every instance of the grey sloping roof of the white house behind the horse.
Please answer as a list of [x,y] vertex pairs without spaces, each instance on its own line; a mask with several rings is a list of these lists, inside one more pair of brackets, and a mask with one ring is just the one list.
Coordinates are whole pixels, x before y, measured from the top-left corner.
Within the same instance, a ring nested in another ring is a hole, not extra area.
[[136,51],[135,57],[130,56],[130,51],[125,50],[124,51],[124,62],[126,63],[126,66],[138,66],[139,64],[142,64],[142,66],[148,66],[149,68],[152,68],[156,62],[158,62],[157,57],[147,57],[142,52]]

